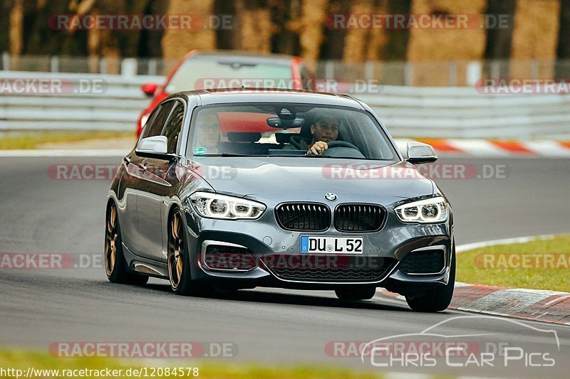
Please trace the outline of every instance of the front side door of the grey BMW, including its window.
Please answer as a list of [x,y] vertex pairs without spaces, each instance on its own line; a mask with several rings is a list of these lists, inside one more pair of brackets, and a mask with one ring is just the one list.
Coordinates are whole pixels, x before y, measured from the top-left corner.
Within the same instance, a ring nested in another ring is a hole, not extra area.
[[[172,100],[172,108],[160,135],[167,137],[167,156],[148,156],[142,161],[146,167],[144,181],[138,193],[138,225],[140,254],[157,260],[166,260],[165,230],[167,214],[164,204],[172,196],[176,176],[173,175],[177,142],[182,129],[185,105],[181,100]],[[164,233],[163,233],[164,232]]]

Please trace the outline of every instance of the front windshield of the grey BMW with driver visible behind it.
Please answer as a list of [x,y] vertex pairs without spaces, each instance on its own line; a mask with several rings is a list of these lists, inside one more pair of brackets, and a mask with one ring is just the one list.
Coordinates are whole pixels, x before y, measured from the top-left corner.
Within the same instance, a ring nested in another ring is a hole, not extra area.
[[[360,110],[292,103],[198,107],[190,156],[311,156],[398,160],[375,119]],[[326,143],[322,154],[311,146]]]

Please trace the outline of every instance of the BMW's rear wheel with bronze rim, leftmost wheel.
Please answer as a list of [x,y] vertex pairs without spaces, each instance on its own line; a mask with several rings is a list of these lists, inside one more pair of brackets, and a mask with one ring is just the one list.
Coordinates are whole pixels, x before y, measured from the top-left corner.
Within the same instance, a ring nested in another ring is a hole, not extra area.
[[105,216],[105,274],[111,283],[144,285],[148,282],[145,275],[129,272],[123,254],[123,239],[120,236],[120,224],[117,206],[110,203]]

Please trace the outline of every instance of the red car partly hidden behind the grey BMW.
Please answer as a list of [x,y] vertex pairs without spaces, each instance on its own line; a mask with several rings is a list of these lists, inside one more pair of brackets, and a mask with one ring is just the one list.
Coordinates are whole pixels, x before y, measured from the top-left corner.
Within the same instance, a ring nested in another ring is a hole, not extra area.
[[227,50],[192,50],[167,76],[165,84],[146,83],[142,92],[152,96],[137,124],[137,137],[148,115],[168,95],[185,90],[232,87],[278,87],[314,90],[315,79],[299,57]]

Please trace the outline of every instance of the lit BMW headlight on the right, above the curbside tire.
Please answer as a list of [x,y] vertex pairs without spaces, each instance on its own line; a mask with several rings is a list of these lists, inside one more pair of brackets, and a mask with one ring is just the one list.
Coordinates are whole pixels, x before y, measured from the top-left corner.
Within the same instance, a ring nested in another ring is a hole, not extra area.
[[442,223],[449,215],[447,201],[441,196],[398,205],[394,210],[404,223]]

